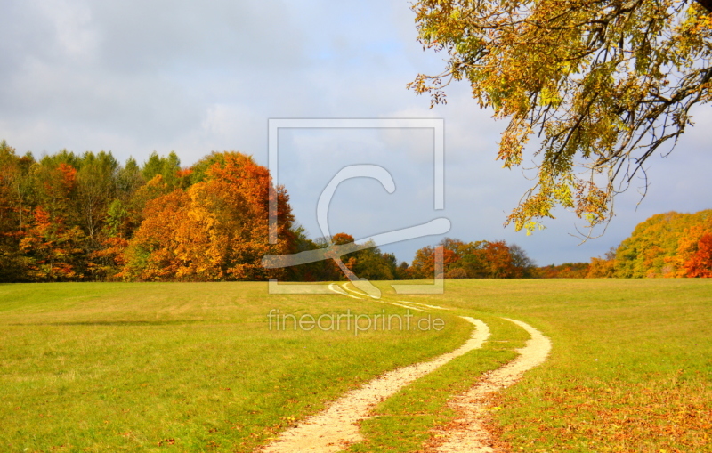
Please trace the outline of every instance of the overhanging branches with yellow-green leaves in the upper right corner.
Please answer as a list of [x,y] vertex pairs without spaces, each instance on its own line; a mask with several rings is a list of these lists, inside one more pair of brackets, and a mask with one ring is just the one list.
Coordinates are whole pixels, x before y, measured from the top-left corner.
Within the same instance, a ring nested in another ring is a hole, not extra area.
[[541,228],[555,206],[590,229],[610,221],[614,196],[692,124],[693,105],[712,99],[708,0],[418,0],[412,8],[419,41],[447,53],[447,64],[409,88],[430,93],[433,107],[446,101],[444,86],[467,79],[481,108],[509,120],[497,157],[507,168],[521,166],[525,144],[540,137],[536,183],[507,217],[517,231]]

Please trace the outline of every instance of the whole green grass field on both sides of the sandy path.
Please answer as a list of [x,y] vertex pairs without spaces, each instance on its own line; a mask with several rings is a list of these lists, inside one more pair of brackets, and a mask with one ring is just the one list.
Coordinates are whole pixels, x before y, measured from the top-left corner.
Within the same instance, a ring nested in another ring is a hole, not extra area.
[[433,312],[441,331],[354,335],[270,329],[267,315],[406,311],[262,283],[2,285],[0,450],[251,451],[354,385],[455,349],[464,314],[493,341],[376,407],[352,451],[421,449],[453,417],[449,396],[526,340],[503,316],[554,344],[493,402],[514,451],[712,451],[712,282],[448,280],[408,300],[456,310]]

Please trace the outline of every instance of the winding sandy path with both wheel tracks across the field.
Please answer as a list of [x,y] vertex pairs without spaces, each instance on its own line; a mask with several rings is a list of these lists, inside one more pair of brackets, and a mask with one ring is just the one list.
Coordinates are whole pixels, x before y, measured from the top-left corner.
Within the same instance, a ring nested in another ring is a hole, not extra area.
[[[361,299],[360,293],[348,287],[330,287],[335,293]],[[345,291],[344,291],[345,289]],[[349,294],[352,293],[352,294]],[[392,303],[378,301],[383,303]],[[392,303],[411,310],[425,311],[423,308],[449,310],[445,307],[398,301]],[[409,305],[402,305],[408,303]],[[418,305],[418,309],[413,304]],[[359,389],[346,392],[344,396],[334,401],[319,414],[305,419],[300,425],[281,433],[279,439],[258,449],[263,453],[335,453],[347,448],[350,444],[361,441],[357,422],[367,418],[369,410],[377,403],[385,400],[401,388],[440,368],[466,352],[481,348],[490,336],[490,328],[481,320],[470,317],[461,318],[474,326],[472,336],[462,346],[453,352],[448,352],[415,365],[394,369],[383,376],[365,384]],[[506,318],[505,318],[506,319]],[[509,320],[509,319],[506,319]],[[490,392],[498,392],[522,378],[524,373],[546,360],[551,351],[551,342],[537,329],[519,320],[509,320],[526,330],[531,338],[527,344],[517,350],[520,356],[501,368],[483,376],[480,384],[470,391],[449,401],[449,406],[462,417],[455,421],[449,429],[436,432],[427,451],[438,453],[484,453],[494,452],[491,448],[490,434],[484,429],[485,399]]]

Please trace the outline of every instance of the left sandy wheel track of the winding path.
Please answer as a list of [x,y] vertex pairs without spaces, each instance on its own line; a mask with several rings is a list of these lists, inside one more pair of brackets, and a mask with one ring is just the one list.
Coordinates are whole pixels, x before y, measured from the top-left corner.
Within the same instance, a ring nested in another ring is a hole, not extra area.
[[334,401],[328,409],[288,429],[277,441],[261,451],[263,453],[327,453],[340,451],[349,444],[360,441],[361,436],[356,422],[368,417],[368,411],[374,405],[449,360],[481,348],[490,336],[490,328],[481,320],[463,318],[473,323],[475,328],[470,339],[457,350],[442,354],[433,360],[395,369],[377,377],[360,389],[347,392]]

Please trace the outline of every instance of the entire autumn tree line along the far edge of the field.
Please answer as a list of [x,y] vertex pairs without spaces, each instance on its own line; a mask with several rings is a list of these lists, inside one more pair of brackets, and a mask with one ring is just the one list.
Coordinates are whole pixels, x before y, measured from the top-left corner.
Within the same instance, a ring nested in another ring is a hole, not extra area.
[[[271,199],[278,243],[268,241]],[[448,279],[709,277],[712,211],[654,216],[591,263],[537,267],[505,241],[443,239]],[[284,187],[235,151],[190,167],[171,152],[141,165],[111,152],[61,150],[35,158],[0,142],[0,281],[223,281],[345,279],[333,260],[265,269],[264,255],[353,242],[345,232],[310,239],[295,222]],[[376,244],[344,255],[365,279],[433,279],[435,247],[400,262]]]

